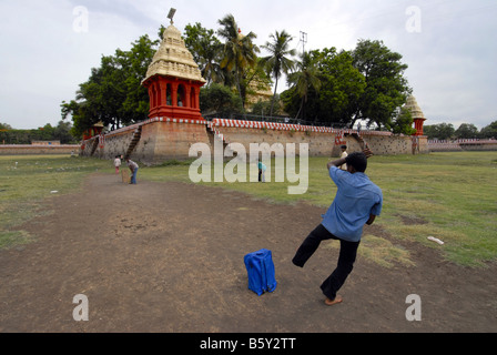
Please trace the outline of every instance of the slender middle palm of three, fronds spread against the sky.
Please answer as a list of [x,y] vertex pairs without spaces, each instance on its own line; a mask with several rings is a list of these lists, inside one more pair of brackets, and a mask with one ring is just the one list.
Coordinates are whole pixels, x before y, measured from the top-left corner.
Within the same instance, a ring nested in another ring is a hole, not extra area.
[[273,115],[277,81],[282,74],[288,74],[288,72],[293,70],[295,63],[287,57],[295,55],[295,50],[288,49],[293,38],[285,30],[282,32],[275,31],[274,34],[270,34],[270,38],[272,39],[272,42],[266,42],[265,45],[262,45],[262,48],[270,52],[270,55],[262,58],[262,62],[266,65],[271,77],[274,78],[274,93],[273,100],[271,100],[270,110],[270,115]]

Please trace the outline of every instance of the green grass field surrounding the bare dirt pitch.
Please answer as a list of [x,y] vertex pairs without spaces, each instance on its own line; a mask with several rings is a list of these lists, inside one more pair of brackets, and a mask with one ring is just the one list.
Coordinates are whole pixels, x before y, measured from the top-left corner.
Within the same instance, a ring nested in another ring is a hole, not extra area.
[[[246,192],[273,203],[305,201],[326,209],[336,192],[325,169],[327,161],[310,159],[308,190],[302,195],[290,195],[288,183],[274,182],[274,169],[264,184],[202,184]],[[138,178],[190,182],[189,169],[189,162],[170,162],[141,168]],[[95,171],[112,172],[112,162],[53,155],[0,156],[0,247],[29,242],[31,236],[16,227],[50,213],[39,209],[40,201],[80,189],[83,178]],[[395,243],[408,240],[440,248],[448,260],[463,265],[484,266],[497,258],[497,152],[374,156],[366,173],[384,193],[384,210],[375,223],[390,235],[364,235],[359,251],[366,257],[385,266],[409,265],[408,251]],[[428,241],[428,236],[445,244]]]

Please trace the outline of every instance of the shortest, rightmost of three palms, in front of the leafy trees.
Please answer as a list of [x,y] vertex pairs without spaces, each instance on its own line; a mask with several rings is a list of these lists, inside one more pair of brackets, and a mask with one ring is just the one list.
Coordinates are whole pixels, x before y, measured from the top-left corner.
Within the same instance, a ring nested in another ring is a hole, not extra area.
[[288,74],[288,83],[295,88],[296,93],[301,97],[301,108],[295,116],[298,115],[304,108],[304,103],[307,102],[307,94],[311,88],[315,91],[321,89],[320,70],[312,55],[308,52],[301,54],[301,60],[295,63],[295,71]]

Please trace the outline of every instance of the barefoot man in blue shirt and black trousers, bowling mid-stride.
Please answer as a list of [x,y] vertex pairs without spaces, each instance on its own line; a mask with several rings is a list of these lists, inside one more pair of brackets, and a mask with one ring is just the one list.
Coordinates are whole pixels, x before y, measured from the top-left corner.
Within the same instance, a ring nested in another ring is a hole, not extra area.
[[[338,187],[335,200],[326,211],[323,222],[304,240],[292,260],[295,265],[303,267],[322,241],[339,241],[338,264],[321,285],[327,297],[326,305],[342,302],[342,296],[336,293],[352,272],[363,226],[372,224],[382,212],[382,190],[364,173],[371,155],[371,151],[366,149],[327,164],[329,176]],[[344,163],[347,164],[347,171],[338,169]]]

